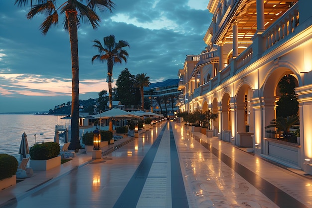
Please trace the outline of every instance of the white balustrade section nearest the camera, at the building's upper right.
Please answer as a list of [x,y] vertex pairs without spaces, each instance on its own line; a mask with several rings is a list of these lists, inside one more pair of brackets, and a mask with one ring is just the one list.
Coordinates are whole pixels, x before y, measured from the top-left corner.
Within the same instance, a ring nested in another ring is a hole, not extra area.
[[299,3],[294,4],[262,34],[262,37],[266,39],[266,49],[295,31],[295,28],[299,25],[298,7]]

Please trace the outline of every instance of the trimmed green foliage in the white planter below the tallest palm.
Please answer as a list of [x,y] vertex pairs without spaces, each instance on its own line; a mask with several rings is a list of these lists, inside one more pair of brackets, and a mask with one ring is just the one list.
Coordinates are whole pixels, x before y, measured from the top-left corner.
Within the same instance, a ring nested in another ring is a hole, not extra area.
[[31,160],[48,160],[60,154],[60,145],[56,142],[36,144],[29,150]]

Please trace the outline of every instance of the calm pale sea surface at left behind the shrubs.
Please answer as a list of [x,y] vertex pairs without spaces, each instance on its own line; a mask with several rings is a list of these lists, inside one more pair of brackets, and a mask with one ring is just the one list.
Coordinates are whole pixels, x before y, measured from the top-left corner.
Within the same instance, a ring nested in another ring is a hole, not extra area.
[[[19,160],[19,145],[23,132],[29,148],[36,142],[53,142],[55,125],[68,126],[64,116],[0,115],[0,153]],[[34,136],[36,134],[36,136]]]

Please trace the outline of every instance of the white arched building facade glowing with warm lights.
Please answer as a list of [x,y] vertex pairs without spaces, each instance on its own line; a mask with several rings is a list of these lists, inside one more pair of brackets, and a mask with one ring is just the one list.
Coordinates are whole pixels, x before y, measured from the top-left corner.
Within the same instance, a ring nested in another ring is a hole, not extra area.
[[[211,110],[214,136],[312,174],[312,0],[210,0],[206,50],[178,71],[180,111]],[[300,142],[267,138],[278,83],[297,80]]]

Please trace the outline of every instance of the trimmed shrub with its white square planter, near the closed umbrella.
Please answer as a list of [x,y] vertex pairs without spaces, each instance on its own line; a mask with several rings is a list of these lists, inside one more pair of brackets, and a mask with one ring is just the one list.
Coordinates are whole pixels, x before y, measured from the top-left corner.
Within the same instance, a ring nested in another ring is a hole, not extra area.
[[30,167],[34,171],[47,171],[61,165],[60,145],[56,142],[35,144],[29,150]]

